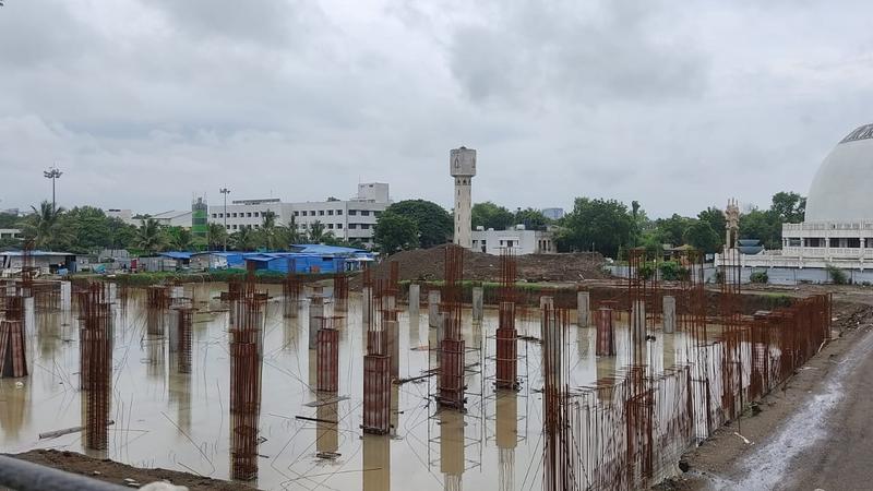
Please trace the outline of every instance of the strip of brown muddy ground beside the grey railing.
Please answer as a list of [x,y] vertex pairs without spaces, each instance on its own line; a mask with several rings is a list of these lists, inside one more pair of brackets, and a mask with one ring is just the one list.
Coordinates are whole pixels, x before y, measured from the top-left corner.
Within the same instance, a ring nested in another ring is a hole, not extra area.
[[101,481],[111,482],[119,486],[129,486],[124,479],[133,479],[140,486],[150,482],[169,481],[176,486],[184,486],[190,490],[219,490],[234,491],[247,490],[244,484],[238,482],[211,479],[187,472],[177,472],[167,469],[142,469],[119,464],[109,459],[93,458],[74,452],[63,452],[56,450],[35,450],[23,454],[12,455],[22,460],[40,464],[68,472],[88,476]]

